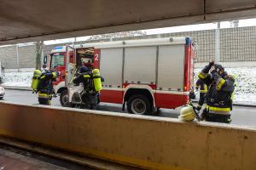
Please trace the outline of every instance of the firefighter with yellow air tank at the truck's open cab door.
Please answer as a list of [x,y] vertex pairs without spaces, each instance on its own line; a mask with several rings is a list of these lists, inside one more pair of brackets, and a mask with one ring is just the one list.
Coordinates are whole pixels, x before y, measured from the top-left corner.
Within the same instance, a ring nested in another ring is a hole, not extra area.
[[[86,109],[92,109],[95,110],[97,104],[99,103],[99,91],[101,90],[102,84],[101,80],[100,82],[95,81],[96,78],[94,77],[94,71],[97,69],[91,71],[88,67],[82,66],[79,69],[79,76],[76,77],[73,82],[75,84],[79,84],[83,82],[84,90],[81,94],[82,99],[82,107]],[[98,70],[97,70],[98,71]],[[100,83],[100,84],[99,84]]]

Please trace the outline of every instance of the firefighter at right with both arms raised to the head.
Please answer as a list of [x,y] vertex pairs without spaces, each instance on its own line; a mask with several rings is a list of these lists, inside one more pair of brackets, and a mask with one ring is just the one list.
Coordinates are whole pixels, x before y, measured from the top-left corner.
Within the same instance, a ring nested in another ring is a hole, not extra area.
[[235,79],[224,71],[222,65],[214,64],[214,60],[200,72],[198,77],[209,87],[206,95],[207,105],[201,119],[207,122],[230,123],[231,96],[235,89]]

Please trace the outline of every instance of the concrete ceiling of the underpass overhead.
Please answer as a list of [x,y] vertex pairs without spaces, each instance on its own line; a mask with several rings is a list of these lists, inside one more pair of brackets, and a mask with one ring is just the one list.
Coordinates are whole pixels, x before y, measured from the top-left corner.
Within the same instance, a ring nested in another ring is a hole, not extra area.
[[255,0],[1,0],[0,44],[253,17]]

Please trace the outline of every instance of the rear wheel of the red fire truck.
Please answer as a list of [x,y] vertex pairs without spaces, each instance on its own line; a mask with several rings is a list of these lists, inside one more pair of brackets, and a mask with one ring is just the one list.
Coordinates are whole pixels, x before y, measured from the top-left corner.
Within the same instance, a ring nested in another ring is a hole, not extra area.
[[148,98],[143,95],[137,94],[131,96],[127,101],[127,110],[129,113],[137,115],[150,115],[152,106]]

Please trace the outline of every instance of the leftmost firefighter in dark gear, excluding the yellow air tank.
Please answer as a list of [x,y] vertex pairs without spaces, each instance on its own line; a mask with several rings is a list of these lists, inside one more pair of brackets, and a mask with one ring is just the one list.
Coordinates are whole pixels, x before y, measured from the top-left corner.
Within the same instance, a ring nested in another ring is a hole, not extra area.
[[50,105],[54,92],[53,83],[59,76],[58,71],[43,71],[38,82],[38,102],[40,105]]

